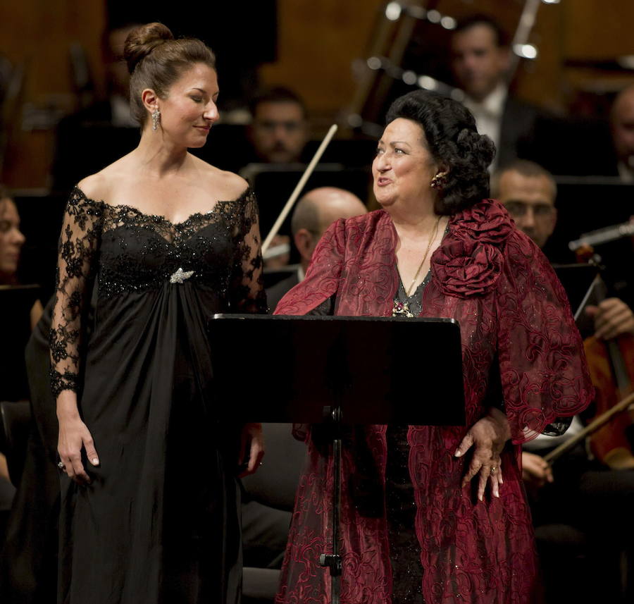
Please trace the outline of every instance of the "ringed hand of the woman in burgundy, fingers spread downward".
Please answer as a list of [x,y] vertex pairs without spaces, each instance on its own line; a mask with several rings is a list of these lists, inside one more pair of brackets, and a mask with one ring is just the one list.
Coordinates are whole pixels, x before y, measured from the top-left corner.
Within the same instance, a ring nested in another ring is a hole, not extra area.
[[456,457],[462,457],[473,445],[473,457],[462,479],[462,487],[464,488],[473,476],[480,474],[478,480],[480,501],[483,500],[487,481],[491,482],[493,495],[499,497],[499,485],[504,483],[499,454],[509,438],[511,438],[511,430],[506,415],[492,407],[485,417],[471,426],[454,453]]

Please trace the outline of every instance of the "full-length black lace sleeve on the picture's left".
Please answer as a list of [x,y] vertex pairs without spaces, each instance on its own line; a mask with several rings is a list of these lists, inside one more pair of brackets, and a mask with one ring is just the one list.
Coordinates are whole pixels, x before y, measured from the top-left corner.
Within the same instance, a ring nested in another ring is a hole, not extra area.
[[70,194],[59,238],[55,307],[51,322],[51,389],[79,387],[82,316],[90,300],[94,257],[99,241],[103,204],[79,190]]

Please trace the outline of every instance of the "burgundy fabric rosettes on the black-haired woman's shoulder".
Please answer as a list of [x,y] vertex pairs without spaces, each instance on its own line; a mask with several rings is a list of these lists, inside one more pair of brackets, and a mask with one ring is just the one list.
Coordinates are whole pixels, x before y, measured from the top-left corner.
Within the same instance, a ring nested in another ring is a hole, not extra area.
[[449,235],[434,252],[437,288],[449,296],[484,295],[495,287],[504,265],[504,246],[515,226],[495,199],[483,199],[449,220]]

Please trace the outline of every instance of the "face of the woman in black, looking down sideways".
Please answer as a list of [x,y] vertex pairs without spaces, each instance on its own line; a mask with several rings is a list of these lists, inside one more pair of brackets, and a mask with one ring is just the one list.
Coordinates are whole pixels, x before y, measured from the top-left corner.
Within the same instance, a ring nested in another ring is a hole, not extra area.
[[[211,125],[218,121],[218,78],[216,71],[204,63],[196,63],[185,71],[159,99],[151,90],[144,90],[149,111],[158,106],[161,111],[163,136],[183,147],[202,147]],[[154,101],[153,101],[154,98]],[[146,128],[151,128],[151,119]]]

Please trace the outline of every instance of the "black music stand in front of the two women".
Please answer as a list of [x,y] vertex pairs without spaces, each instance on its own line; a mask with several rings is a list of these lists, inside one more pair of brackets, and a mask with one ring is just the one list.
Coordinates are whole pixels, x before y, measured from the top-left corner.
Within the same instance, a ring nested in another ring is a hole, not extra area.
[[[454,319],[217,314],[209,322],[214,396],[228,421],[326,422],[334,461],[331,603],[339,603],[342,424],[463,426]],[[251,355],[245,365],[245,350]],[[247,371],[247,375],[245,375]],[[240,401],[235,405],[237,384]],[[413,401],[418,404],[412,405]]]

